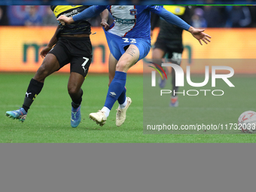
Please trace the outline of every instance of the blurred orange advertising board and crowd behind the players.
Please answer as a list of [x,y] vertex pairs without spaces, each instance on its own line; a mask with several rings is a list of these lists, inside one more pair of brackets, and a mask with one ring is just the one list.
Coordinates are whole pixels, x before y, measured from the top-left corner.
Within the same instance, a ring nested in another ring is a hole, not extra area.
[[[30,4],[32,1],[24,2]],[[52,2],[55,1],[40,1],[48,4]],[[92,32],[96,32],[96,35],[91,35],[93,63],[90,72],[106,73],[109,50],[104,32],[99,25],[100,17],[92,18],[90,23],[93,26]],[[190,24],[197,28],[206,28],[213,41],[208,46],[200,46],[189,33],[184,32],[184,59],[255,58],[253,39],[256,32],[256,6],[193,5]],[[42,62],[39,56],[41,48],[50,40],[56,26],[56,18],[49,5],[1,5],[0,72],[35,72]],[[159,29],[155,29],[153,33],[152,44],[157,38],[158,31]],[[151,59],[151,53],[147,58]],[[69,72],[69,66],[61,72]],[[130,72],[142,73],[142,62],[134,66]]]

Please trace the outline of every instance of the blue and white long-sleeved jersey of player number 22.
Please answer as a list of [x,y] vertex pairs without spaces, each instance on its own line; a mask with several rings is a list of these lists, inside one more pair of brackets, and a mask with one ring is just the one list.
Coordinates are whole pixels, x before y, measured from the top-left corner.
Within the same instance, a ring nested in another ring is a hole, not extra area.
[[161,5],[93,5],[73,17],[74,21],[95,17],[105,9],[114,17],[114,23],[109,29],[111,34],[126,38],[150,39],[151,12],[160,15],[169,23],[188,30],[190,25],[175,16]]

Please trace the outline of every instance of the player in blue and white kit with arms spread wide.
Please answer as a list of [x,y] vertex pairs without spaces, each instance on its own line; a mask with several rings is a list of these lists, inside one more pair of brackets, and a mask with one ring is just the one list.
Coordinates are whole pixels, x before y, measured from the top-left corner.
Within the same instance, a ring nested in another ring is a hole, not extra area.
[[[210,42],[209,35],[204,33],[204,29],[195,29],[175,16],[166,11],[160,5],[93,5],[87,10],[82,11],[74,17],[59,16],[62,25],[70,24],[78,20],[86,20],[95,17],[105,9],[111,13],[114,23],[109,26],[108,31],[105,30],[105,36],[108,41],[108,47],[111,52],[111,66],[115,69],[109,71],[110,77],[114,78],[109,84],[108,94],[105,99],[105,105],[96,113],[90,114],[90,119],[94,120],[100,126],[103,126],[107,120],[109,112],[118,100],[116,125],[120,126],[126,119],[126,110],[132,100],[126,97],[126,72],[138,62],[148,55],[151,48],[151,12],[158,14],[164,20],[175,26],[190,32],[194,38],[202,44],[202,41],[208,44]],[[107,23],[102,26],[108,28]]]

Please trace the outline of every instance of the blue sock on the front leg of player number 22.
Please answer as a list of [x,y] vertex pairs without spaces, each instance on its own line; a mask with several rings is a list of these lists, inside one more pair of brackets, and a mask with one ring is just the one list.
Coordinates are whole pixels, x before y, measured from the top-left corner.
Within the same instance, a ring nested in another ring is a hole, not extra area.
[[123,93],[126,84],[126,73],[125,72],[115,72],[114,79],[108,87],[108,95],[105,99],[105,107],[111,108],[114,105],[114,102],[117,101],[120,94]]

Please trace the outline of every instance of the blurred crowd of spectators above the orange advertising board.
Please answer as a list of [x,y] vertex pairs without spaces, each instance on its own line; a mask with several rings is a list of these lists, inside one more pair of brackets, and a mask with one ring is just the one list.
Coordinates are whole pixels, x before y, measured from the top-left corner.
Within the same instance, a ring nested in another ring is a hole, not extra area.
[[[1,1],[1,0],[0,0]],[[63,5],[84,5],[91,1],[102,2],[103,0],[66,0]],[[110,4],[123,4],[126,0],[108,0]],[[228,0],[227,0],[228,1]],[[221,3],[227,3],[226,0],[220,0]],[[26,2],[32,2],[28,0]],[[49,9],[55,0],[41,0],[44,5],[9,5],[0,6],[0,25],[23,26],[23,25],[46,25],[56,26],[56,18]],[[128,1],[126,1],[128,2]],[[130,0],[130,4],[143,4],[147,0]],[[157,1],[161,2],[161,0]],[[182,0],[173,1],[175,4]],[[214,0],[198,0],[201,6],[192,6],[194,14],[191,17],[191,24],[195,27],[256,27],[256,6],[212,6]],[[204,2],[206,5],[202,5]],[[46,5],[49,3],[48,5]],[[245,3],[255,4],[256,0],[246,0]],[[26,18],[25,18],[26,17]],[[111,19],[111,17],[110,17]],[[25,23],[26,20],[26,23]],[[100,17],[90,19],[92,26],[100,26]],[[111,22],[112,23],[112,22]]]

